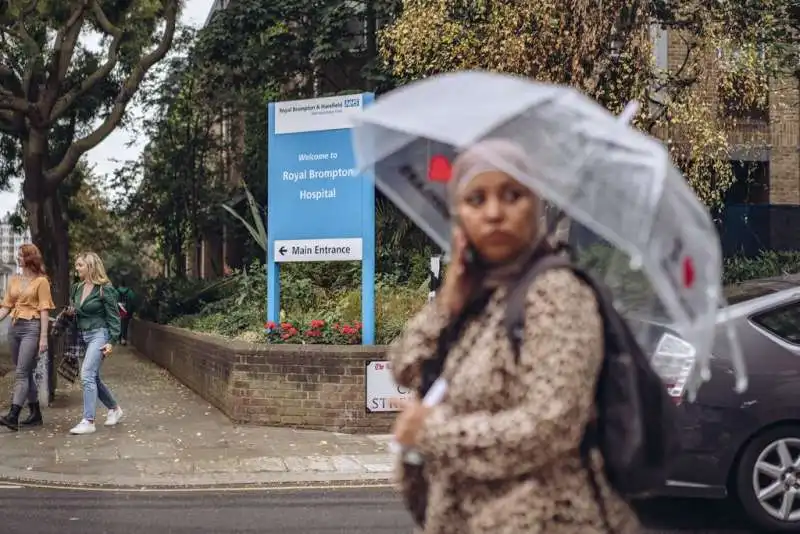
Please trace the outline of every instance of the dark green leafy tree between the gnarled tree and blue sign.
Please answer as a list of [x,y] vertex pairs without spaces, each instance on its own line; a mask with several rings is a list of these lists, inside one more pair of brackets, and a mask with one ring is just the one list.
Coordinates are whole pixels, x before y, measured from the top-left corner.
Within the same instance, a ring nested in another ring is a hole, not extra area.
[[139,236],[156,242],[171,271],[183,276],[186,245],[199,246],[203,233],[219,226],[225,136],[218,111],[203,100],[191,48],[163,66],[160,85],[145,99],[150,117],[142,133],[150,142],[115,183],[128,192],[124,211],[141,221]]

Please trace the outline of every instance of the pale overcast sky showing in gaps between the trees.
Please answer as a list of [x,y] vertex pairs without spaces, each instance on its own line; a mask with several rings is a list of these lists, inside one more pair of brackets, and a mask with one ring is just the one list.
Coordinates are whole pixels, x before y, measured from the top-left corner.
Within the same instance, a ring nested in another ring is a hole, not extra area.
[[[184,3],[181,20],[184,24],[195,27],[202,26],[214,0],[186,0]],[[102,176],[110,174],[121,163],[131,159],[136,159],[146,144],[146,139],[135,139],[133,146],[126,146],[133,141],[129,132],[115,130],[105,141],[90,150],[86,159],[94,165],[96,172]],[[5,216],[8,212],[14,211],[19,200],[19,184],[14,184],[13,191],[0,192],[0,216]]]

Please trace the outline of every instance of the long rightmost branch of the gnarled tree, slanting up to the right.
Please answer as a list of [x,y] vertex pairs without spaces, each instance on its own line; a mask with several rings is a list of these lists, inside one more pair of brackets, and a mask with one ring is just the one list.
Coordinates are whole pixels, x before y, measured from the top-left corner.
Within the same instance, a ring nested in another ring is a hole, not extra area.
[[114,131],[114,128],[116,128],[125,115],[128,103],[139,88],[139,84],[142,83],[142,79],[145,74],[147,74],[147,71],[158,61],[163,59],[169,51],[170,46],[172,46],[172,39],[175,36],[177,15],[178,0],[169,0],[165,10],[166,28],[164,29],[161,42],[134,67],[120,89],[116,101],[114,102],[114,107],[111,109],[111,113],[108,114],[103,123],[86,137],[75,141],[69,147],[61,162],[45,172],[46,187],[49,190],[55,190],[58,184],[75,168],[81,156],[88,150],[97,146]]

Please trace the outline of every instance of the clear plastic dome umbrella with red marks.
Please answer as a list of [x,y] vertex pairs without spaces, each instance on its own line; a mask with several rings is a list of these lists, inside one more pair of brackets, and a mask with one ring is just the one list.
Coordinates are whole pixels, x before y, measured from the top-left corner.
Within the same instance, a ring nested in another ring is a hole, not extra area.
[[[484,159],[569,218],[578,261],[610,287],[670,390],[691,398],[710,377],[723,300],[719,238],[664,146],[627,122],[571,88],[468,71],[382,96],[354,120],[353,144],[359,167],[447,251],[452,160],[481,140],[516,143],[532,172]],[[733,330],[727,337],[744,391],[739,344]]]

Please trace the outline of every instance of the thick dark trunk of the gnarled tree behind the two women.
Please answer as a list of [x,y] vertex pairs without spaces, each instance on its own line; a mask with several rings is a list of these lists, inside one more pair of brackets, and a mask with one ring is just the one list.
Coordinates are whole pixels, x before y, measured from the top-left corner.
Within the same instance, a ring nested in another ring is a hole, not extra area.
[[[30,178],[26,176],[25,180]],[[55,194],[41,200],[26,198],[25,209],[31,238],[42,252],[50,277],[53,299],[57,306],[66,305],[70,286],[69,234],[61,202]]]

